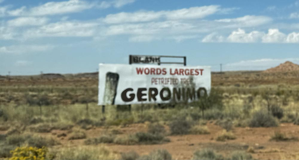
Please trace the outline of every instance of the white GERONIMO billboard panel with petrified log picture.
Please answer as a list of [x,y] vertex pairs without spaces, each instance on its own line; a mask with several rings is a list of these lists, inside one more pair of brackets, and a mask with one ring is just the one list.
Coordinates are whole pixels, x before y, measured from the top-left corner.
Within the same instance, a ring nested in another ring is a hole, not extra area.
[[99,65],[99,105],[192,102],[210,88],[209,66]]

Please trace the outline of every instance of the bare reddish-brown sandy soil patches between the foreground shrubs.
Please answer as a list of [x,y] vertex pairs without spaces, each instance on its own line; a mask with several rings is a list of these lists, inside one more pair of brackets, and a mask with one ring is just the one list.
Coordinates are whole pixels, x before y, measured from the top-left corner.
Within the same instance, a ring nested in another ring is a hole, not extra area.
[[[167,149],[172,154],[173,159],[191,159],[193,152],[202,148],[212,148],[224,156],[230,156],[235,150],[246,151],[248,147],[253,147],[255,153],[252,153],[252,155],[255,159],[281,159],[285,157],[285,155],[293,155],[299,152],[299,142],[275,142],[269,140],[275,131],[281,131],[287,135],[298,135],[299,126],[291,123],[282,123],[279,127],[271,128],[234,128],[233,132],[237,136],[237,139],[228,140],[226,142],[218,142],[215,140],[217,135],[222,132],[222,128],[213,123],[208,123],[207,126],[211,132],[210,134],[168,136],[171,142],[161,145],[107,144],[107,147],[117,153],[134,150],[140,155],[148,154],[155,149]],[[123,128],[115,128],[123,133],[146,131],[145,124],[134,124]],[[107,130],[107,128],[92,128],[86,131],[86,133],[90,138],[97,137]],[[45,134],[55,136],[63,132],[67,133],[67,131],[52,131],[52,133]],[[63,137],[60,138],[60,140],[62,145],[84,145],[84,139],[69,141],[67,137]]]

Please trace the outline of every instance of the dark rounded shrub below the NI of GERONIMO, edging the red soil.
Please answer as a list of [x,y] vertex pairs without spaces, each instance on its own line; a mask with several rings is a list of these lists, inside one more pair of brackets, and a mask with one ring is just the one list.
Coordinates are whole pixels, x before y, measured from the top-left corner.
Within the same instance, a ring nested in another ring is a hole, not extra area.
[[169,123],[170,132],[173,135],[188,134],[191,127],[192,122],[187,121],[185,117],[179,117]]

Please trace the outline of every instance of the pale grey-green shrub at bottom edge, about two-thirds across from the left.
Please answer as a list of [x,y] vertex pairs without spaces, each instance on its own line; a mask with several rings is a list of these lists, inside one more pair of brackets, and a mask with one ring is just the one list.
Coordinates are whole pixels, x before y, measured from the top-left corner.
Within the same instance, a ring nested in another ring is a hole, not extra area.
[[197,150],[193,153],[192,160],[224,160],[221,154],[216,154],[213,150]]

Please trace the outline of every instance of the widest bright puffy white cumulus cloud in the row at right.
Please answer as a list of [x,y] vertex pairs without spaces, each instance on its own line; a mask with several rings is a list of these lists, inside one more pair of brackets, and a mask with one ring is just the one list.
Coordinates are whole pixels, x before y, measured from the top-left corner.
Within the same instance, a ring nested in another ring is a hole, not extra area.
[[228,36],[229,42],[235,42],[235,43],[253,43],[259,41],[259,39],[263,36],[263,33],[258,31],[252,31],[249,33],[246,33],[243,29],[238,29],[236,31],[233,31]]

